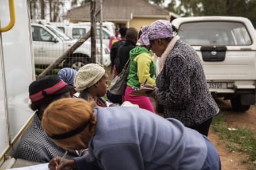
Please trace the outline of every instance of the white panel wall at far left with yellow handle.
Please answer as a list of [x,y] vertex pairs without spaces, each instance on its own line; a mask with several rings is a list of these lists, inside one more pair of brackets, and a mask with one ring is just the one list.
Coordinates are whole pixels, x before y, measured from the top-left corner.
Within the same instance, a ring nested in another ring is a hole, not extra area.
[[[0,164],[3,153],[12,150],[10,144],[33,116],[28,106],[28,86],[35,80],[28,1],[14,1],[14,6],[14,27],[0,33]],[[0,0],[0,26],[9,21],[9,3]]]

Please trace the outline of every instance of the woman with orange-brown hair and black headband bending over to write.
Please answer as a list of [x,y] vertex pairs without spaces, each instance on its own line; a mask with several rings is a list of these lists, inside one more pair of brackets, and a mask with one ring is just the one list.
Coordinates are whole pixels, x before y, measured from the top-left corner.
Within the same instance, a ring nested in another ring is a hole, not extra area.
[[48,106],[42,125],[60,147],[89,149],[62,163],[55,157],[51,170],[220,169],[219,155],[206,136],[145,109],[93,108],[81,98],[62,99]]

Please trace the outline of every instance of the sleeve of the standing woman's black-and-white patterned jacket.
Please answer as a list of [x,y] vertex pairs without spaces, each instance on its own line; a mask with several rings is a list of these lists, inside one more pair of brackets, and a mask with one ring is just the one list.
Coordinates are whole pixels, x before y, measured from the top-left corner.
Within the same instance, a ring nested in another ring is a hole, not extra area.
[[[190,79],[193,66],[179,54],[168,57],[156,79],[155,100],[167,106],[179,106],[190,98]],[[200,88],[200,87],[198,87]]]

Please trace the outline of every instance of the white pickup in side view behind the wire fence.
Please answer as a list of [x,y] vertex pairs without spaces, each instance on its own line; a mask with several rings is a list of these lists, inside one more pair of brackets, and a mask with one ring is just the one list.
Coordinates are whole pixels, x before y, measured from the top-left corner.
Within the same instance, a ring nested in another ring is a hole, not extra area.
[[[35,65],[52,64],[77,41],[51,25],[31,23],[31,30]],[[103,46],[102,58],[100,44],[97,44],[96,48],[96,63],[109,66],[111,61],[108,47],[105,45]],[[90,62],[90,55],[91,44],[90,42],[85,41],[74,51],[72,56],[67,56],[68,58],[62,63],[62,66],[79,69],[82,65]]]

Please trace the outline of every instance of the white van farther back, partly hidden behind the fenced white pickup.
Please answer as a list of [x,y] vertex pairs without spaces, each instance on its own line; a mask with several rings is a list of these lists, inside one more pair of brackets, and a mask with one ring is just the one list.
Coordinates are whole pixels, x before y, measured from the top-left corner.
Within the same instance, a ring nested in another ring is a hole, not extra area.
[[[62,30],[66,35],[71,38],[79,39],[84,34],[86,34],[90,29],[90,25],[85,22],[81,23],[61,23],[61,22],[51,22],[51,25],[58,27]],[[114,36],[112,32],[110,32],[105,27],[102,27],[102,44],[109,46],[109,39],[111,36]],[[96,42],[100,44],[100,27],[97,26],[96,29]],[[90,38],[87,40],[90,41]]]

